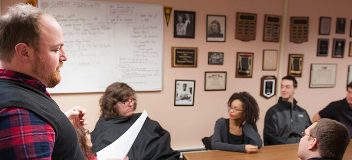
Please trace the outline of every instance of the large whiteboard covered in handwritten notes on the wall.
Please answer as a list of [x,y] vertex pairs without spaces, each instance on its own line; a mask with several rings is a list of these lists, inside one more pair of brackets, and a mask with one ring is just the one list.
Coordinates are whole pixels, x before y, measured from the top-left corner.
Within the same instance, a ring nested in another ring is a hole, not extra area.
[[117,81],[162,90],[162,5],[40,0],[38,7],[57,17],[68,57],[50,93],[104,92]]

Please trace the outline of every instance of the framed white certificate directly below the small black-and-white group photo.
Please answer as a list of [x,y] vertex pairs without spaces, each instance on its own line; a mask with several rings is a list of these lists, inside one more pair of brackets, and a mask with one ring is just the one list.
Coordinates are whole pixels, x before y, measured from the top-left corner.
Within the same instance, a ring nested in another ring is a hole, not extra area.
[[225,91],[227,72],[205,72],[204,91]]

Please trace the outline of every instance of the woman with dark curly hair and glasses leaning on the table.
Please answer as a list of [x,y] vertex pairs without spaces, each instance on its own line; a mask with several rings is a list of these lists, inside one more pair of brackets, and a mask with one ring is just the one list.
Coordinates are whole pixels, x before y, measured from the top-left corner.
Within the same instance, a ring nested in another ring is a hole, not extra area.
[[214,134],[202,141],[207,149],[253,153],[262,146],[255,122],[259,118],[256,100],[247,92],[233,94],[227,102],[230,118],[220,118]]

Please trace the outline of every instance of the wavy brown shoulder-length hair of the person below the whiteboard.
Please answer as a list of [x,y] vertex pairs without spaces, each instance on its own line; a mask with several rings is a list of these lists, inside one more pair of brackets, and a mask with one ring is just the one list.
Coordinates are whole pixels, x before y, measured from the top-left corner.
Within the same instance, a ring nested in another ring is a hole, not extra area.
[[99,100],[101,112],[100,117],[110,120],[111,118],[118,116],[116,103],[126,102],[131,96],[134,96],[134,106],[132,110],[134,111],[137,107],[137,97],[135,96],[134,90],[126,83],[115,82],[109,85],[106,88],[104,95],[101,96]]

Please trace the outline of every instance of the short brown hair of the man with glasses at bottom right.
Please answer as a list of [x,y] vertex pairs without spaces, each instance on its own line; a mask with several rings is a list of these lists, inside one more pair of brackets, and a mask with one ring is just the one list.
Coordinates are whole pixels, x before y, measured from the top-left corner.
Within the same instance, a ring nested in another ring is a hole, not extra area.
[[311,137],[317,138],[319,155],[324,159],[341,160],[350,143],[350,131],[340,122],[328,118],[316,121],[310,130]]

